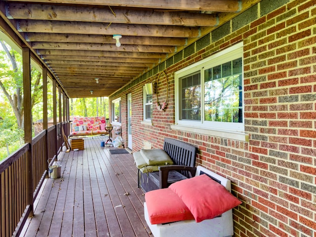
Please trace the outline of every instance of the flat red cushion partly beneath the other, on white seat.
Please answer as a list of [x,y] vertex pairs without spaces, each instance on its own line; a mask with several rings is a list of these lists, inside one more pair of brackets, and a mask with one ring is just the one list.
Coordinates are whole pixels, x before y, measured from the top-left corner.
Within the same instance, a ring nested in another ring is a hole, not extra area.
[[188,207],[171,189],[147,192],[145,200],[149,220],[152,224],[194,220]]

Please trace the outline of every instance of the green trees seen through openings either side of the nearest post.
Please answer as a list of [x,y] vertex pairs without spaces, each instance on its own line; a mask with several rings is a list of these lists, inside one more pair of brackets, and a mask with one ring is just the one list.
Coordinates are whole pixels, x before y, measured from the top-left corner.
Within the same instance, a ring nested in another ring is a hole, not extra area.
[[[24,144],[22,56],[0,40],[0,160]],[[42,77],[31,66],[32,118],[42,118]],[[36,106],[39,105],[39,106]],[[34,110],[36,109],[36,110]]]

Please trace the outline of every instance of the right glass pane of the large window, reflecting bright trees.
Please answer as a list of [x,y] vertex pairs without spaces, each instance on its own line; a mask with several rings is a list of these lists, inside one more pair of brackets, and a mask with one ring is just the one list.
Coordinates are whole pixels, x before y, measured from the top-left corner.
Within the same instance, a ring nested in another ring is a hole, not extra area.
[[[204,71],[204,119],[206,121],[242,122],[241,58]],[[233,67],[232,67],[233,65]],[[231,76],[233,75],[233,76]]]

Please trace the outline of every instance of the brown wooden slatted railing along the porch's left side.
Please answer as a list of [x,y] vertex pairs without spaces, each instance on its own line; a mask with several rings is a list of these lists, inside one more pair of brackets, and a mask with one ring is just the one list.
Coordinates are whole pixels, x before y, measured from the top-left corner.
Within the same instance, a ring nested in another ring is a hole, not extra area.
[[26,154],[32,152],[32,192],[33,202],[47,177],[49,158],[56,158],[61,151],[63,126],[69,135],[69,122],[59,123],[42,131],[19,150],[0,162],[0,236],[19,236],[23,225],[32,212],[33,203],[27,203],[27,167]]

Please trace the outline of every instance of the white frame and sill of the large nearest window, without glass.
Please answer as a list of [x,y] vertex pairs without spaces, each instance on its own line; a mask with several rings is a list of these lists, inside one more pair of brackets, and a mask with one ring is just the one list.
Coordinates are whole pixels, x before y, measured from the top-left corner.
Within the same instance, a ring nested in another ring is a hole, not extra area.
[[[204,120],[204,70],[217,66],[227,61],[237,58],[243,58],[243,43],[237,43],[230,48],[222,50],[206,59],[203,59],[193,65],[183,68],[174,74],[175,78],[175,125],[171,127],[176,130],[197,132],[206,135],[214,135],[237,140],[248,140],[248,135],[244,132],[244,103],[242,103],[242,123],[219,122]],[[192,73],[200,72],[201,85],[201,120],[181,120],[179,118],[179,79]],[[242,70],[243,75],[243,70]],[[244,98],[244,89],[242,84],[242,101]]]

